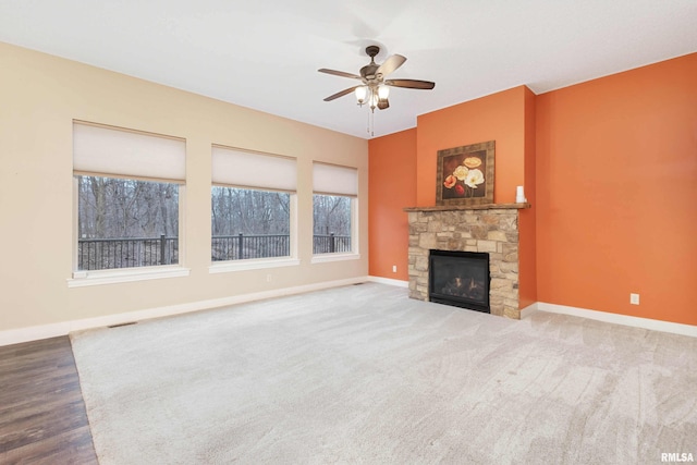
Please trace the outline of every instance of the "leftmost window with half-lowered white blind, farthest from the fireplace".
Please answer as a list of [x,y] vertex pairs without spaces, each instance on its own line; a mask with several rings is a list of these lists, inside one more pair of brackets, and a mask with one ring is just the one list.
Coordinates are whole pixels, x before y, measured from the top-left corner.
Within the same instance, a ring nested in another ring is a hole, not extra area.
[[182,139],[75,122],[77,271],[178,265]]

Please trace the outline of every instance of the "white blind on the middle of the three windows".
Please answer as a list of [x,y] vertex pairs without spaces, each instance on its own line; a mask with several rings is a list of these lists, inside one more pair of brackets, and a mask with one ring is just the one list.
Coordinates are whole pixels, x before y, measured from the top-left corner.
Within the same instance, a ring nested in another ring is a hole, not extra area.
[[294,158],[213,146],[212,181],[215,184],[295,192],[297,170]]

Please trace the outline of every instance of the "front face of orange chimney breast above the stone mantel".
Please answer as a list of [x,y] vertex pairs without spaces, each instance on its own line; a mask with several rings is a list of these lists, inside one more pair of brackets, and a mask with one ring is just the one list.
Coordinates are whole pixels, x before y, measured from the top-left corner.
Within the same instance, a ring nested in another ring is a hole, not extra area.
[[417,118],[416,205],[436,205],[438,150],[496,140],[493,200],[515,201],[524,183],[525,95],[519,86]]

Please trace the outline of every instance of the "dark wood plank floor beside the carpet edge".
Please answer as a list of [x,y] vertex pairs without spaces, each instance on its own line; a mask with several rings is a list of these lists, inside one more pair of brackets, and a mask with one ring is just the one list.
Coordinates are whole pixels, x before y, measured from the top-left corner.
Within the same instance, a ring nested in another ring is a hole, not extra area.
[[97,464],[68,336],[0,347],[0,464]]

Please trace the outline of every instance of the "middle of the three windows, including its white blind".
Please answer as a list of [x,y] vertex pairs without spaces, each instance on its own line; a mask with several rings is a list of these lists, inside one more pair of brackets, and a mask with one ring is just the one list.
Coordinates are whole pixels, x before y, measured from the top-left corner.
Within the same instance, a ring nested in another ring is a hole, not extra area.
[[295,160],[212,148],[211,261],[295,256]]

